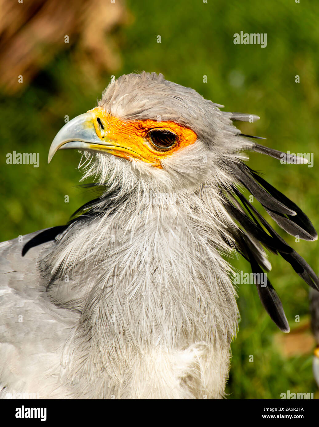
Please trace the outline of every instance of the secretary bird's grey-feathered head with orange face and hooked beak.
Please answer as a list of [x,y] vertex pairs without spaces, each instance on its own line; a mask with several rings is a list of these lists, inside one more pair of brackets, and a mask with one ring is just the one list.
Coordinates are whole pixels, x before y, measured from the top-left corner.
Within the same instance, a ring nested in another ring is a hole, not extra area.
[[112,177],[128,187],[141,179],[167,191],[198,186],[221,173],[227,156],[249,146],[238,137],[231,113],[219,107],[162,74],[121,76],[97,107],[59,131],[48,161],[58,149],[73,148],[90,158],[86,176],[103,183]]

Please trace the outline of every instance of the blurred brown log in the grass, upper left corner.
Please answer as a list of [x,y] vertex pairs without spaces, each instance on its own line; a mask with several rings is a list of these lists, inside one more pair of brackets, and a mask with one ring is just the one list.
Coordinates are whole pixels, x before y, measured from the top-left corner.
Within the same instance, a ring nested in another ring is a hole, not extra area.
[[0,0],[0,9],[0,86],[6,93],[25,88],[18,76],[29,83],[71,46],[72,60],[85,72],[112,72],[121,66],[111,32],[127,22],[122,0]]

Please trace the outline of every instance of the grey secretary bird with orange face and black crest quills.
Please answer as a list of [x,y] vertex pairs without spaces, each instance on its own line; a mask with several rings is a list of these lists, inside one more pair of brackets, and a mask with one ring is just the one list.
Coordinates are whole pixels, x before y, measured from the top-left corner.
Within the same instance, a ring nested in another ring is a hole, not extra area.
[[84,178],[95,178],[100,196],[67,225],[1,246],[3,398],[14,391],[223,398],[239,318],[224,255],[235,252],[249,260],[271,319],[289,332],[274,288],[268,279],[258,284],[271,269],[264,249],[310,287],[319,280],[241,190],[287,233],[317,234],[295,203],[246,164],[247,150],[284,155],[232,123],[259,117],[222,107],[162,74],[128,74],[58,132],[48,161],[59,149],[83,152]]

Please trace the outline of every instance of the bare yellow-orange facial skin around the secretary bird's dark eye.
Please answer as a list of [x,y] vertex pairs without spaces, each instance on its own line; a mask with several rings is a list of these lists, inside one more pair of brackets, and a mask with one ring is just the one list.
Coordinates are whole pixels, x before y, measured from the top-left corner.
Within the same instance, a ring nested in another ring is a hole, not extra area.
[[[96,107],[88,111],[92,114],[95,132],[101,139],[101,145],[94,144],[92,149],[109,152],[115,156],[132,161],[133,158],[162,169],[161,160],[177,150],[195,143],[197,135],[191,129],[175,122],[157,122],[156,120],[121,120]],[[100,126],[97,119],[100,119]],[[152,129],[163,129],[176,135],[171,148],[159,149],[152,144],[148,135]],[[103,142],[107,145],[103,145]]]

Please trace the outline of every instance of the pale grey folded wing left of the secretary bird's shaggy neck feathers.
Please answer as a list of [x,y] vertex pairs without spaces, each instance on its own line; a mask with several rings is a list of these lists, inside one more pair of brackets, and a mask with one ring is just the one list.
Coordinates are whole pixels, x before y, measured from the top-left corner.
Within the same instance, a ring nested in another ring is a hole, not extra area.
[[22,257],[24,244],[38,233],[0,243],[0,398],[67,395],[59,383],[61,352],[80,315],[52,304],[37,269],[40,255],[55,243]]

